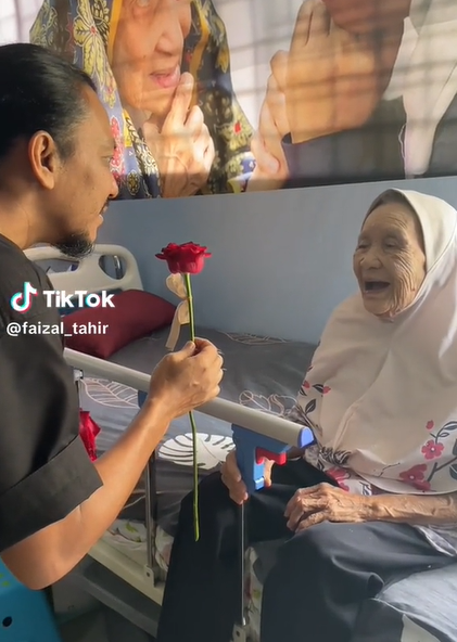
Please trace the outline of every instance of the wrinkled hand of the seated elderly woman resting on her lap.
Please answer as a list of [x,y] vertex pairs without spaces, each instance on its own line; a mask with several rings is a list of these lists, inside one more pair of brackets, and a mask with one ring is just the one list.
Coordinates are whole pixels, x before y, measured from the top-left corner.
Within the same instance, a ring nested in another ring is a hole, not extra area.
[[330,484],[301,488],[289,501],[288,528],[300,532],[321,522],[359,523],[373,519],[371,498],[353,495]]

